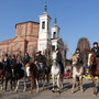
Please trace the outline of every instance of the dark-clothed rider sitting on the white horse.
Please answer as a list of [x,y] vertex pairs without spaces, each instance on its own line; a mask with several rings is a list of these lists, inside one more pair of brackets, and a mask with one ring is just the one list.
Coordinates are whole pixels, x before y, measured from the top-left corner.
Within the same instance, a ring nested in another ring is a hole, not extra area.
[[63,56],[59,48],[56,50],[56,62],[61,66],[61,74],[64,74]]

